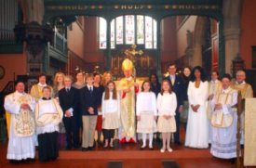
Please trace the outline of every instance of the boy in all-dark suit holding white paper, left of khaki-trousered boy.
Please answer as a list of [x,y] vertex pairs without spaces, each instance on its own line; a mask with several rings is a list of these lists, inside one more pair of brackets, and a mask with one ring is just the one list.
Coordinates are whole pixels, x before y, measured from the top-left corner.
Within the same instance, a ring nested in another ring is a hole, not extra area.
[[65,87],[59,91],[61,109],[64,112],[63,123],[66,130],[67,146],[66,149],[79,148],[79,125],[77,125],[79,112],[77,110],[78,90],[72,85],[72,77],[64,77]]

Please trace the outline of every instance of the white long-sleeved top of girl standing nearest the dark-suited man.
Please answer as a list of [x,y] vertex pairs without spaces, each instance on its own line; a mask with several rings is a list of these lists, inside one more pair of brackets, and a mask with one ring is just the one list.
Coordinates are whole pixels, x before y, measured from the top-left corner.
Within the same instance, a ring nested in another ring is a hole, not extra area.
[[158,115],[175,115],[175,110],[177,109],[177,97],[174,92],[171,94],[164,93],[161,95],[161,93],[157,96],[157,110]]

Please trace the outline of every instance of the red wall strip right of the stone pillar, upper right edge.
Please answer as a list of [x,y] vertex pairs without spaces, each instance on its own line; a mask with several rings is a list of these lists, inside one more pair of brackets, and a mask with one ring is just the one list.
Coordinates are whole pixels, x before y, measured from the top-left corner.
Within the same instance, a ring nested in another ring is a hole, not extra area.
[[256,1],[244,0],[241,16],[241,57],[245,60],[246,69],[251,69],[251,46],[256,45]]

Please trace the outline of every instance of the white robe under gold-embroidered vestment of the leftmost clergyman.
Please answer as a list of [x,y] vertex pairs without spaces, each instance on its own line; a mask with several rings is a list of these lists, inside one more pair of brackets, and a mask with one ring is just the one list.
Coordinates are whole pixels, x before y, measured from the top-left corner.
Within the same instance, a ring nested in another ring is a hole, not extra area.
[[7,95],[5,98],[5,109],[11,114],[7,160],[33,159],[35,156],[34,135],[16,136],[14,133],[15,114],[19,114],[20,104],[22,104],[22,102],[19,101],[19,98],[25,95],[28,97],[30,109],[34,112],[34,97],[25,93],[20,94],[16,91],[13,94]]

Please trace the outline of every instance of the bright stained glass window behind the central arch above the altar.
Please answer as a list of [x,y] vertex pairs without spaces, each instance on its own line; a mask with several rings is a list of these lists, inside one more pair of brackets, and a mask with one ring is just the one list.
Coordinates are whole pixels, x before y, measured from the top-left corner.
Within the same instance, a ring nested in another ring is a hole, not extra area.
[[[100,18],[100,48],[106,48],[106,20]],[[155,19],[142,15],[120,16],[111,21],[111,48],[115,45],[144,45],[156,49],[157,30]]]

